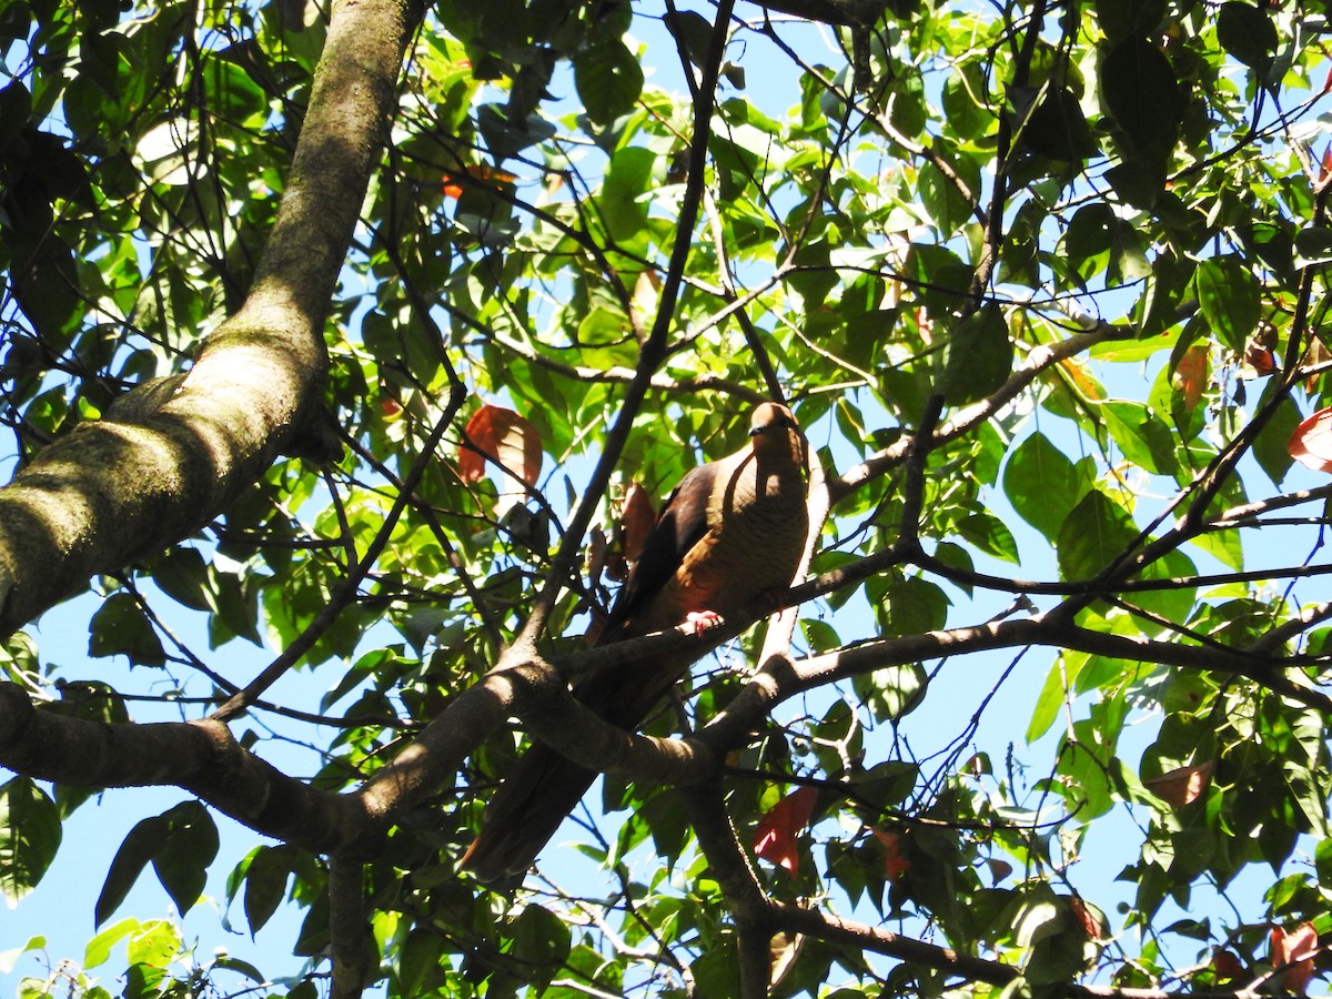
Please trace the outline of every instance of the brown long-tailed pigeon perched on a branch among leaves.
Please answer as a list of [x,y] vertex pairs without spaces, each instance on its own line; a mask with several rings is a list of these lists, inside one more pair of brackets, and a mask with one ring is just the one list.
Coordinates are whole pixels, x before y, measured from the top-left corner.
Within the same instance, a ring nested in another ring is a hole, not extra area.
[[[786,590],[809,534],[807,465],[791,410],[758,405],[745,446],[687,472],[666,500],[597,645],[694,622],[697,630]],[[651,655],[591,674],[573,693],[602,719],[635,730],[689,665],[678,653]],[[490,799],[460,866],[486,883],[522,875],[595,778],[533,743]]]

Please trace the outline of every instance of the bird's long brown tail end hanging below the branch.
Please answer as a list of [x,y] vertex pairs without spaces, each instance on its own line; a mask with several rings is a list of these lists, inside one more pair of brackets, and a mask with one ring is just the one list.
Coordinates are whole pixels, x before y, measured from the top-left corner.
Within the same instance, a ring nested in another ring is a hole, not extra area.
[[522,874],[595,779],[555,750],[531,746],[486,806],[481,834],[461,866],[484,882]]

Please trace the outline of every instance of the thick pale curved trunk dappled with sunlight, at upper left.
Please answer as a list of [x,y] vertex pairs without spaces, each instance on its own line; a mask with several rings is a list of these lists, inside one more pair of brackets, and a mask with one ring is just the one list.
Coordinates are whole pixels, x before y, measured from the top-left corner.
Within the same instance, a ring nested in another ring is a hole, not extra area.
[[188,377],[132,393],[0,492],[0,634],[91,575],[198,530],[314,425],[329,298],[417,16],[401,0],[334,7],[282,206],[240,312]]

